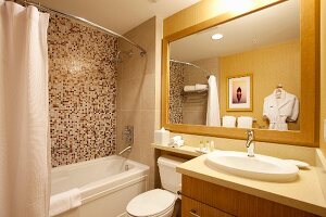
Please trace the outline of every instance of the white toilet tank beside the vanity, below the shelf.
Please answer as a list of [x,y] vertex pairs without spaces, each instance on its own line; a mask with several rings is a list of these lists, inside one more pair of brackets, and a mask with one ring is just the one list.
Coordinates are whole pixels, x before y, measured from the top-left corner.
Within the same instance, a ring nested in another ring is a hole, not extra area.
[[160,178],[162,188],[171,192],[177,193],[181,187],[181,175],[176,173],[176,167],[187,159],[162,155],[158,159]]

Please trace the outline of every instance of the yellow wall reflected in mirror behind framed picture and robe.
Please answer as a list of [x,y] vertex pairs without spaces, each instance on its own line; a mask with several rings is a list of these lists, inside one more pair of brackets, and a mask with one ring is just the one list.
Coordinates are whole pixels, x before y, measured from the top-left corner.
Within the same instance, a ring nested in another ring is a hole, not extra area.
[[[220,68],[221,116],[252,116],[256,119],[254,127],[267,128],[267,123],[263,120],[263,102],[278,84],[281,84],[286,91],[296,94],[300,102],[299,40],[221,58]],[[227,78],[246,74],[253,75],[253,111],[227,112]],[[289,129],[300,129],[299,120],[290,123]]]

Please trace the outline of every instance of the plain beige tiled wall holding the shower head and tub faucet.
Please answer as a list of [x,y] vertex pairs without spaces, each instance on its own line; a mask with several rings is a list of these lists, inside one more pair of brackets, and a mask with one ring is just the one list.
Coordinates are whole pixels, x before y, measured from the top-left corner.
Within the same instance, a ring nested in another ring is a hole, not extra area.
[[[153,131],[158,126],[156,118],[160,115],[158,108],[156,84],[160,81],[160,62],[158,56],[155,17],[142,23],[128,31],[125,36],[139,43],[147,51],[147,55],[138,55],[139,50],[121,41],[120,50],[133,49],[133,58],[123,56],[123,63],[117,68],[117,152],[126,144],[122,138],[125,126],[134,126],[134,145],[130,153],[126,153],[130,159],[150,166],[150,188],[154,187],[155,157],[151,148]],[[160,51],[159,51],[160,52]]]

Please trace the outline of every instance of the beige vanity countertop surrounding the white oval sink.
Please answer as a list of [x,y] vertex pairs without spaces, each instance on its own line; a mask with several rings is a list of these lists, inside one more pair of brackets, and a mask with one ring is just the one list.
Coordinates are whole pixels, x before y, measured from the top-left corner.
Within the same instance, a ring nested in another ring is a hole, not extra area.
[[321,188],[317,168],[314,166],[306,170],[300,169],[298,179],[287,183],[252,180],[218,171],[206,165],[205,155],[181,164],[176,170],[211,183],[326,216],[326,200]]

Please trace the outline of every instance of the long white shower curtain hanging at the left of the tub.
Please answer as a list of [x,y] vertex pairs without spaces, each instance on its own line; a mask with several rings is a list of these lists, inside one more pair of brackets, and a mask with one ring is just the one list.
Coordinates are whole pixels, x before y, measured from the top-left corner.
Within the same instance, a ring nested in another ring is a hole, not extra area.
[[49,15],[0,0],[0,216],[48,216]]

